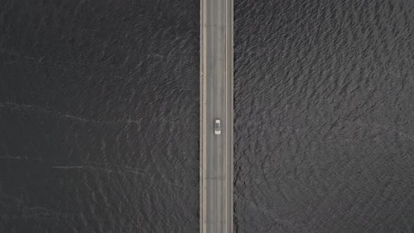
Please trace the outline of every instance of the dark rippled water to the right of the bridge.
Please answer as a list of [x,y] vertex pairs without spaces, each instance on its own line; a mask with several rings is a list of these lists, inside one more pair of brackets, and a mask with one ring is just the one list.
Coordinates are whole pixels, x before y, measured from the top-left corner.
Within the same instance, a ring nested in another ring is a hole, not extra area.
[[414,1],[235,0],[239,232],[414,231]]

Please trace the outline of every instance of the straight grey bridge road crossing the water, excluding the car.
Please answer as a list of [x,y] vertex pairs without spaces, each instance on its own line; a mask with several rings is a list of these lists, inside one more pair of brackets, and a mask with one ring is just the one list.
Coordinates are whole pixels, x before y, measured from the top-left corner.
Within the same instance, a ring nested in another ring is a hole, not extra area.
[[201,0],[200,27],[200,229],[233,232],[233,1]]

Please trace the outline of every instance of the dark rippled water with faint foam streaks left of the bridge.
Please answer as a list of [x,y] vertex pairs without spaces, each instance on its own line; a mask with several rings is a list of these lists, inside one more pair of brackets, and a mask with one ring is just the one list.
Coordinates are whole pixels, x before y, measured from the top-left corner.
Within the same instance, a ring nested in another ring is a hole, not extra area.
[[199,1],[0,1],[0,232],[199,229]]

